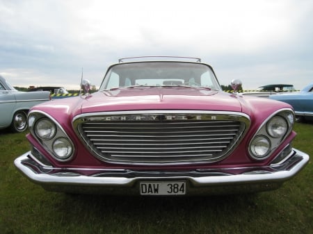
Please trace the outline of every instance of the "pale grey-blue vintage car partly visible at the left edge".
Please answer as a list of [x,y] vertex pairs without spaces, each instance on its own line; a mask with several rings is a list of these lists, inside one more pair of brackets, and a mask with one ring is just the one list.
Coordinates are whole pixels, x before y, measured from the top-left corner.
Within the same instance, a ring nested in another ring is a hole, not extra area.
[[10,128],[14,132],[25,131],[29,109],[49,100],[49,92],[19,92],[0,76],[0,129]]

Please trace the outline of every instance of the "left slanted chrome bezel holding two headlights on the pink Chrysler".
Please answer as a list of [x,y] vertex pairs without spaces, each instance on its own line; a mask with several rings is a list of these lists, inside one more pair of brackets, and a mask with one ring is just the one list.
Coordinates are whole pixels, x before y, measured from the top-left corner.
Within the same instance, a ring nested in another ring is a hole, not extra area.
[[[53,158],[59,162],[72,160],[74,144],[56,119],[45,112],[35,110],[29,112],[28,122],[31,134]],[[63,142],[63,150],[60,150],[62,147],[58,146],[58,141]]]

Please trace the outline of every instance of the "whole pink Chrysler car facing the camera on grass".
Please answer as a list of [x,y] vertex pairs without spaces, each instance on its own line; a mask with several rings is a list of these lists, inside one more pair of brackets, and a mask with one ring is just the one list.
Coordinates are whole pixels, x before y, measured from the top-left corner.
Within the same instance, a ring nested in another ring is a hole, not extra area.
[[[229,94],[200,59],[126,58],[98,92],[35,106],[15,166],[45,190],[205,195],[274,190],[309,160],[287,103]],[[234,81],[236,89],[239,82]]]

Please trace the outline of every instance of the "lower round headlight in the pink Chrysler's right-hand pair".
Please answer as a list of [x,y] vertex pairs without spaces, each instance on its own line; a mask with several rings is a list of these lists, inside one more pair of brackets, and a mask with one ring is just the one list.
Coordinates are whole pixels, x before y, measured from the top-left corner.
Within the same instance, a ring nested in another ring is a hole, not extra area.
[[250,144],[250,152],[255,159],[264,159],[271,149],[271,142],[267,137],[259,135],[252,140]]

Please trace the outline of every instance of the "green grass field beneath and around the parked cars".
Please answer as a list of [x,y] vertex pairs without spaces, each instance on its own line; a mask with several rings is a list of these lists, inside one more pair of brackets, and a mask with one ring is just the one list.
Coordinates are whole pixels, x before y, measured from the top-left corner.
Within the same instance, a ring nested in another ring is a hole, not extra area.
[[[294,147],[313,155],[313,124],[296,124]],[[13,160],[24,133],[0,131],[0,233],[312,233],[312,162],[279,189],[220,197],[108,197],[46,192]]]

